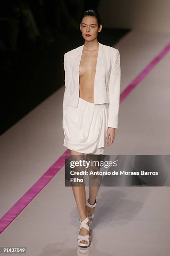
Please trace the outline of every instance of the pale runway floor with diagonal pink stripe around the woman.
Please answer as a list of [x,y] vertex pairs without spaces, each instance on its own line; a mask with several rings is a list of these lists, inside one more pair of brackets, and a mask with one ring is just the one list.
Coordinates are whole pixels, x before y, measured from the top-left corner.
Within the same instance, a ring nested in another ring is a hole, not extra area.
[[[170,154],[169,46],[170,34],[152,31],[129,32],[113,45],[122,100],[116,138],[104,154]],[[26,247],[28,256],[168,256],[169,187],[101,187],[91,246],[77,246],[79,214],[65,187],[63,92],[0,136],[0,247]]]

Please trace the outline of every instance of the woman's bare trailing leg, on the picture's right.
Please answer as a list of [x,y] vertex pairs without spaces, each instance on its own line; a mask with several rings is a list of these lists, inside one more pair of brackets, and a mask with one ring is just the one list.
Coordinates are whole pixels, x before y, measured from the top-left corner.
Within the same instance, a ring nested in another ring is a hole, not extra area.
[[[87,160],[86,161],[101,161],[101,156],[102,155],[94,155],[94,154],[87,154]],[[89,168],[87,168],[87,171],[93,171],[93,172],[96,172],[96,171],[100,171],[100,167],[99,165],[95,165],[93,164],[92,166],[89,165]],[[99,188],[100,188],[100,185],[101,185],[101,180],[102,180],[102,177],[101,175],[89,175],[89,204],[91,205],[94,205],[95,203],[95,200],[96,200],[96,196],[97,196],[97,193],[99,191]],[[86,206],[86,214],[87,216],[90,216],[94,213],[94,208],[91,208],[89,207],[88,205]],[[93,218],[91,219],[93,220]]]

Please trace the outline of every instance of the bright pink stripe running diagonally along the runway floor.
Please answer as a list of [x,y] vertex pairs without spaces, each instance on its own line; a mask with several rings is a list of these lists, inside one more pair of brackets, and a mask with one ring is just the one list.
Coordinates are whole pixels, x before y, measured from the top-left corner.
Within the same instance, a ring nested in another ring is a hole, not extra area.
[[[129,93],[139,84],[142,79],[153,69],[153,67],[167,54],[170,50],[170,44],[153,59],[150,64],[125,88],[120,95],[120,103],[129,95]],[[22,210],[38,195],[46,184],[56,175],[57,172],[65,164],[65,155],[70,154],[70,150],[67,149],[60,158],[38,179],[38,181],[13,205],[8,212],[0,219],[0,233],[8,227],[8,225],[22,212]]]

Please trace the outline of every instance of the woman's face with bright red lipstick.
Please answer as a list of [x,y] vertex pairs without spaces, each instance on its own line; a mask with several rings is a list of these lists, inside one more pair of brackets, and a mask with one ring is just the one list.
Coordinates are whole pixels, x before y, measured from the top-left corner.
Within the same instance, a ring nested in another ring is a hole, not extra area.
[[[98,27],[97,20],[94,16],[85,16],[80,24],[80,30],[86,41],[92,41],[97,38],[101,31],[102,25]],[[87,36],[90,35],[90,36]]]

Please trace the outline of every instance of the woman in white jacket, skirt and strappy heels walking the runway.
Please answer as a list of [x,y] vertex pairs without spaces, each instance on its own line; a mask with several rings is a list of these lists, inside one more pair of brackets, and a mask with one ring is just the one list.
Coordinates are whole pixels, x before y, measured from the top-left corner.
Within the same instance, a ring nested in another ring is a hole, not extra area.
[[[70,149],[71,156],[86,154],[87,159],[104,154],[118,128],[120,54],[98,42],[101,29],[99,13],[86,10],[80,21],[84,45],[64,54],[63,146]],[[72,189],[80,214],[78,245],[87,247],[99,185],[89,186],[87,205],[85,186],[72,185]]]

